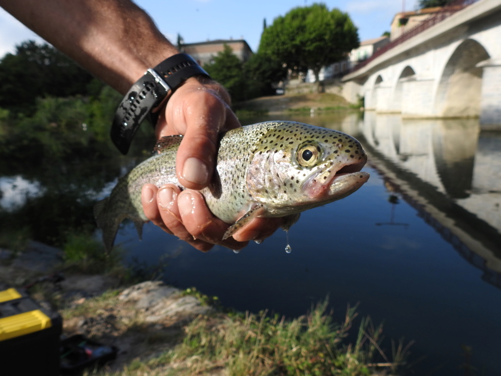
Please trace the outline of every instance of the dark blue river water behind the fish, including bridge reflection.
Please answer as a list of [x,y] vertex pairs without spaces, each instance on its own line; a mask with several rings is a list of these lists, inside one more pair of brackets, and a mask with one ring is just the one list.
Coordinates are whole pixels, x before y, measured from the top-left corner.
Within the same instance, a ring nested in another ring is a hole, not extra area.
[[[328,296],[342,320],[358,303],[360,316],[383,322],[385,338],[415,341],[409,374],[501,374],[501,131],[480,130],[476,119],[371,112],[241,120],[277,118],[356,137],[369,181],[303,213],[289,234],[291,253],[281,230],[238,254],[204,254],[151,224],[139,241],[128,224],[116,241],[127,261],[165,264],[165,282],[240,311],[299,316]],[[14,205],[9,184],[23,185],[16,178],[0,178],[0,205]],[[26,183],[25,196],[43,192],[37,184]],[[383,347],[391,356],[389,341]]]

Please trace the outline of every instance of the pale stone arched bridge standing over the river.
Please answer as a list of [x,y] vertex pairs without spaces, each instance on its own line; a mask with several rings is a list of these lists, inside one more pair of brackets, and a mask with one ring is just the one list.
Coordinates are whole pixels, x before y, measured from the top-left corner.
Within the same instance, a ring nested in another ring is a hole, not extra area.
[[344,96],[409,117],[501,124],[501,2],[478,0],[344,77]]

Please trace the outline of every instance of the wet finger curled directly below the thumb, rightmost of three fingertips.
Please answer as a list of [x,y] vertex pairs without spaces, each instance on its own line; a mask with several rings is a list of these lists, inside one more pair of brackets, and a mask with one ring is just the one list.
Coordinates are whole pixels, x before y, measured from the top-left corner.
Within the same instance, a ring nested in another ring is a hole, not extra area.
[[234,250],[247,245],[247,242],[238,242],[233,238],[222,240],[228,224],[212,215],[199,192],[183,191],[178,196],[178,207],[186,230],[195,238]]

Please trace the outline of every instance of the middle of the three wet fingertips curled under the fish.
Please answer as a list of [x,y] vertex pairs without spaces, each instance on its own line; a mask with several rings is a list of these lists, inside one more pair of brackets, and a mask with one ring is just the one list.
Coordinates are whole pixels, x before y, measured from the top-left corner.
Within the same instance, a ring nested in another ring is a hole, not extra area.
[[179,187],[173,184],[164,185],[158,190],[157,202],[161,222],[169,229],[171,234],[189,243],[196,249],[206,252],[212,248],[213,244],[200,239],[195,239],[184,227],[181,215],[179,214],[177,202],[177,198],[180,193],[181,190]]

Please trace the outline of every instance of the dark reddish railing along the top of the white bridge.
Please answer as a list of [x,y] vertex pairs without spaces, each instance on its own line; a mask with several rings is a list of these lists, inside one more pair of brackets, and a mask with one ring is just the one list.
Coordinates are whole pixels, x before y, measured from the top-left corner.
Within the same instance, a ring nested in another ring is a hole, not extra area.
[[358,63],[355,67],[353,67],[350,70],[351,72],[355,72],[356,70],[365,67],[367,64],[369,64],[371,61],[376,59],[378,56],[381,56],[388,50],[391,50],[392,48],[401,45],[402,43],[406,42],[407,40],[411,39],[412,37],[415,37],[417,34],[422,33],[426,29],[431,28],[433,25],[438,24],[439,22],[445,20],[447,17],[453,15],[454,13],[466,8],[467,6],[476,3],[478,0],[456,0],[454,2],[449,3],[445,7],[442,7],[440,11],[434,13],[430,17],[426,18],[425,20],[421,21],[419,24],[414,26],[413,28],[407,30],[405,33],[403,33],[400,37],[395,38],[393,41],[388,43],[387,45],[381,47],[377,51],[375,51],[370,58],[367,60],[364,60],[360,63]]

